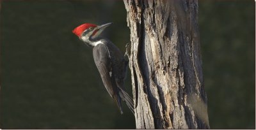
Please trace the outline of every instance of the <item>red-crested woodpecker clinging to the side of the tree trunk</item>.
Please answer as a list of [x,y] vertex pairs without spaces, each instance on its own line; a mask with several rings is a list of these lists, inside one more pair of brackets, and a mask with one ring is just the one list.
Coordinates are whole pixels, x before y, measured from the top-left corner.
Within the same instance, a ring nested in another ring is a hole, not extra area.
[[93,47],[93,59],[99,70],[102,82],[118,105],[120,113],[122,110],[122,101],[125,101],[131,112],[134,114],[133,99],[125,92],[124,80],[127,72],[129,60],[125,55],[107,38],[100,36],[102,31],[109,25],[81,24],[73,29],[73,33],[89,47]]

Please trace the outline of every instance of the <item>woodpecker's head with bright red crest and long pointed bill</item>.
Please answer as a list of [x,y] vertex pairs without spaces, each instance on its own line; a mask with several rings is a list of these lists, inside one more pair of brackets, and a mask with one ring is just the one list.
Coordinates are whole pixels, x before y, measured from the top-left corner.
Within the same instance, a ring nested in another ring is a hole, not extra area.
[[76,27],[72,32],[76,34],[80,40],[84,41],[89,46],[93,45],[93,40],[97,38],[106,27],[112,23],[95,25],[95,24],[82,24]]

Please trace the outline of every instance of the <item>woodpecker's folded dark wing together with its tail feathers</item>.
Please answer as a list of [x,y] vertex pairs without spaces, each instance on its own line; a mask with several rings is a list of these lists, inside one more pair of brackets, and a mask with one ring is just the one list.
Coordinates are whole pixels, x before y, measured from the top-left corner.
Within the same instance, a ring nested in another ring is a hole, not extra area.
[[102,82],[104,83],[104,86],[108,90],[110,96],[115,99],[121,113],[123,113],[121,98],[132,110],[132,113],[134,113],[132,98],[122,89],[124,86],[124,77],[122,79],[114,77],[108,47],[101,43],[95,46],[93,48],[93,58],[97,68],[99,69],[99,73],[102,78]]

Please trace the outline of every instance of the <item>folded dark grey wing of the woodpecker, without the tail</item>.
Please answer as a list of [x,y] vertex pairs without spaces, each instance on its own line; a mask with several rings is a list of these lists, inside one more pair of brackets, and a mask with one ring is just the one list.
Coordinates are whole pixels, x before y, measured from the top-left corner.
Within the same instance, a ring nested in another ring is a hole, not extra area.
[[112,98],[115,98],[116,87],[113,84],[112,80],[112,66],[109,50],[104,44],[98,44],[93,48],[93,58],[94,62],[99,70],[100,76],[102,78],[102,82],[104,86],[108,90],[108,93]]

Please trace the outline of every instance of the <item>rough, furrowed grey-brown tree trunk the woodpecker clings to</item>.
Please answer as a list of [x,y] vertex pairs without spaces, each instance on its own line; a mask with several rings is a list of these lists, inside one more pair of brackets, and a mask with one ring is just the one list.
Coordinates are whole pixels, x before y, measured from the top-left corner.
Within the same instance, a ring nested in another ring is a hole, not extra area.
[[196,0],[124,0],[137,129],[209,128]]

